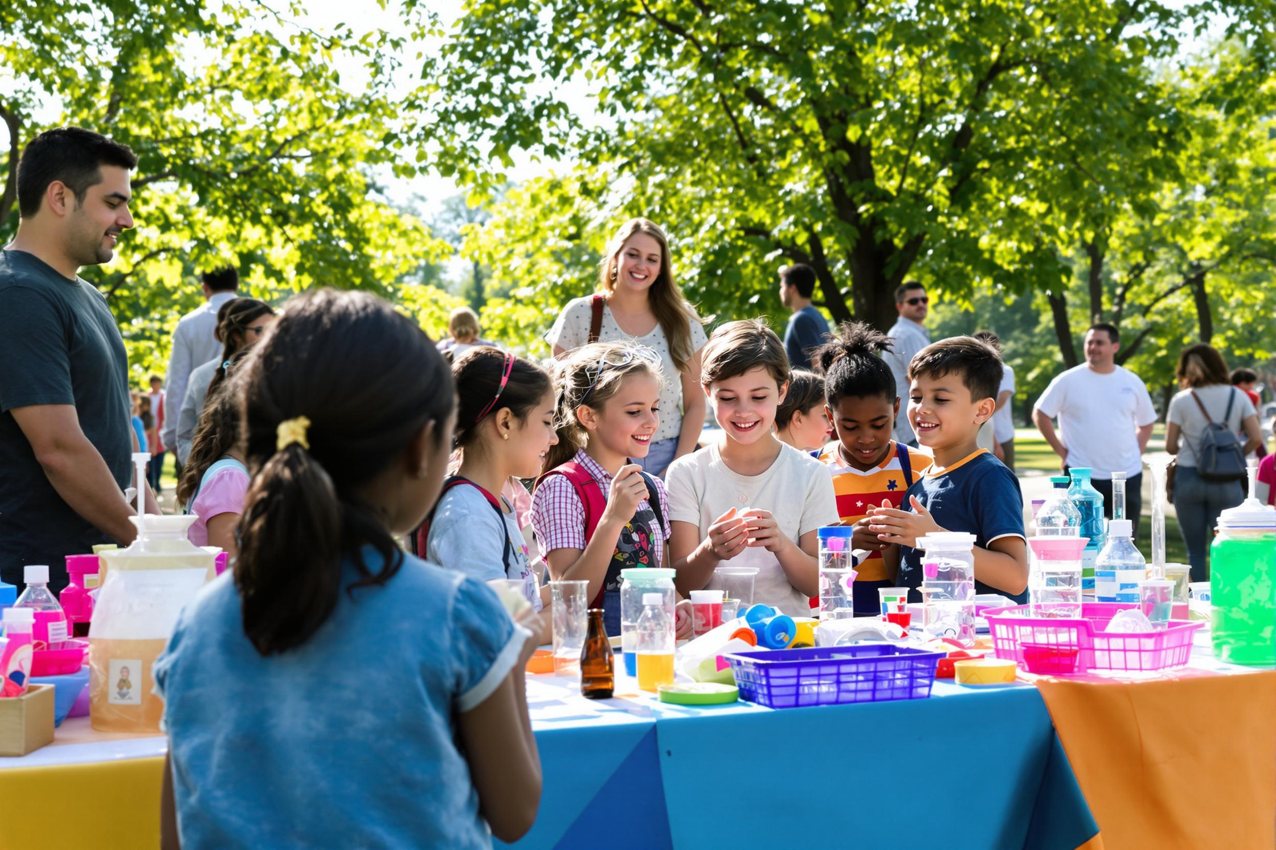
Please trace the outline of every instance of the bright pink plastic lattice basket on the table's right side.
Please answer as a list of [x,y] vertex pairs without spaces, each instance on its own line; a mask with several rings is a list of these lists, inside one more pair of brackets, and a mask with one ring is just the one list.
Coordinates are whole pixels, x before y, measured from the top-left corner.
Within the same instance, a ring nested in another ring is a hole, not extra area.
[[[1192,637],[1205,623],[1170,622],[1161,632],[1105,632],[1116,612],[1137,608],[1120,603],[1076,605],[1012,605],[985,612],[997,658],[1013,659],[1028,673],[1081,675],[1114,670],[1151,673],[1183,666],[1192,655]],[[1059,614],[1051,617],[1050,612]]]

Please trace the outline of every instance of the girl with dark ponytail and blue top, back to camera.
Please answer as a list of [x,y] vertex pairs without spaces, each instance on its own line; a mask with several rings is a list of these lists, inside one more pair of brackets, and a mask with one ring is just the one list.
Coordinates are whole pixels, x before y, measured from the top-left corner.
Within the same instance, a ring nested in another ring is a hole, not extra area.
[[[322,289],[288,302],[231,387],[253,475],[240,557],[156,664],[168,837],[180,825],[188,850],[518,840],[541,790],[528,632],[482,582],[396,544],[438,498],[452,449],[434,343],[374,296]],[[324,789],[323,804],[299,789]]]

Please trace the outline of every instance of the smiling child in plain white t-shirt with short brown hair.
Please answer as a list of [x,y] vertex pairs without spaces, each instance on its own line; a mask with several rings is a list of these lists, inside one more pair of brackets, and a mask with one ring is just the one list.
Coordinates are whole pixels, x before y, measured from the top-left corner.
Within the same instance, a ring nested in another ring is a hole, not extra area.
[[675,580],[717,589],[716,567],[755,567],[754,603],[809,614],[819,591],[818,529],[838,521],[823,464],[776,438],[789,389],[783,343],[760,321],[718,328],[701,381],[722,435],[669,469]]

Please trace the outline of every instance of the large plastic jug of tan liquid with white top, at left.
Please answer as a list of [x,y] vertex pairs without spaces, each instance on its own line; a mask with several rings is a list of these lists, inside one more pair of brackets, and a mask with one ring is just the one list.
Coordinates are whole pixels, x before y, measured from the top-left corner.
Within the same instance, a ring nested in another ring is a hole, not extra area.
[[160,731],[152,669],[177,614],[213,575],[214,556],[186,539],[197,517],[129,517],[138,538],[102,553],[106,577],[88,632],[89,715],[101,731]]

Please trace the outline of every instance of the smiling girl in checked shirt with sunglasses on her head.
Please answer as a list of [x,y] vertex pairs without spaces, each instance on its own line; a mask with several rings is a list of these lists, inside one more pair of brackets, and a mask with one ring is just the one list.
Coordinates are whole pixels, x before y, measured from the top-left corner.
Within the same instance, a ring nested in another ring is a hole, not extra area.
[[[532,493],[532,528],[553,579],[590,582],[609,635],[620,633],[620,571],[667,559],[669,494],[635,463],[660,427],[661,381],[655,352],[619,343],[578,348],[554,370],[558,445]],[[679,637],[690,630],[684,605]]]

